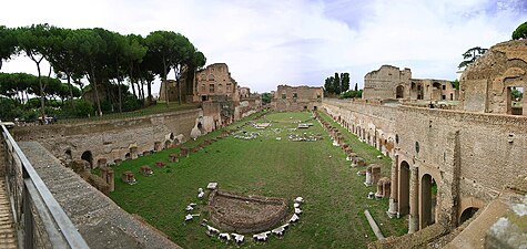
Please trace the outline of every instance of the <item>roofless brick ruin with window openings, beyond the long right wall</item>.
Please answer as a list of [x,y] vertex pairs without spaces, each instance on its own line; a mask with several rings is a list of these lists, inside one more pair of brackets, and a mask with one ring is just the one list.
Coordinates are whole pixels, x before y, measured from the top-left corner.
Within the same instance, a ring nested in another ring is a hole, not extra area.
[[450,81],[412,79],[409,69],[383,65],[364,76],[364,100],[457,101]]

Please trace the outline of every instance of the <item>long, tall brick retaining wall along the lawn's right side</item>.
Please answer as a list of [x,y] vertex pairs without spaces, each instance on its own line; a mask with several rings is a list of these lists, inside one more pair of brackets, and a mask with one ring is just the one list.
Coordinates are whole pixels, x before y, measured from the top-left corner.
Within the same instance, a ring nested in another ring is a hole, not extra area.
[[[394,159],[392,203],[399,209],[408,208],[397,204],[402,193],[408,193],[409,197],[405,198],[409,198],[409,212],[417,219],[416,229],[426,227],[419,216],[425,209],[420,189],[425,176],[432,176],[438,187],[435,221],[456,226],[465,208],[480,208],[517,175],[527,174],[527,117],[524,116],[327,98],[323,108]],[[395,142],[393,147],[391,141]],[[412,189],[399,186],[403,162],[417,174],[411,180]]]

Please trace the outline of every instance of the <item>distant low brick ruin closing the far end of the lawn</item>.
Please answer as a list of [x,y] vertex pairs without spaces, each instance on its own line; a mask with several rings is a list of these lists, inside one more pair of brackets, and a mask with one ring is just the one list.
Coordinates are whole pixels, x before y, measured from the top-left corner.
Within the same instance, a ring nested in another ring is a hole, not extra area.
[[317,110],[324,97],[322,87],[278,85],[271,106],[274,111]]

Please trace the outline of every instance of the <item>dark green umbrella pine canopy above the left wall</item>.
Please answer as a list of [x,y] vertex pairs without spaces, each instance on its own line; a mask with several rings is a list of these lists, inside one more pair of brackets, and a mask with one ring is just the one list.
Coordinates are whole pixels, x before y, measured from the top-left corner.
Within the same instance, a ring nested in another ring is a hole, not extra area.
[[[38,87],[24,93],[40,96],[41,116],[45,115],[45,98],[51,96],[69,98],[74,110],[73,98],[79,94],[73,84],[90,96],[88,100],[95,104],[99,115],[109,105],[111,110],[122,111],[123,102],[130,100],[126,83],[131,85],[132,98],[150,104],[155,76],[165,80],[174,70],[180,87],[183,72],[193,75],[206,62],[205,55],[188,38],[173,31],[154,31],[143,38],[102,28],[63,29],[47,23],[14,29],[0,25],[0,69],[2,61],[16,54],[28,56],[37,66]],[[48,61],[50,68],[42,69],[43,61]],[[47,87],[58,87],[49,80],[52,72],[67,82],[61,85],[60,94],[47,91]],[[85,81],[88,84],[83,87]],[[183,83],[188,90],[192,89],[191,82]]]

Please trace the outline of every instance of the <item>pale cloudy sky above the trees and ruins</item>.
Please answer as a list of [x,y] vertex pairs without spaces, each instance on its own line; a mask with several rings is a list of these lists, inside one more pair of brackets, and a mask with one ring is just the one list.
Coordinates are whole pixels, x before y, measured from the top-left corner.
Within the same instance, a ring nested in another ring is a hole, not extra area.
[[[323,85],[334,72],[364,75],[383,64],[416,79],[456,79],[462,54],[510,40],[526,0],[4,0],[0,24],[50,23],[146,35],[188,37],[207,64],[227,63],[240,85]],[[37,73],[23,56],[2,72]],[[159,92],[159,86],[154,87]]]

